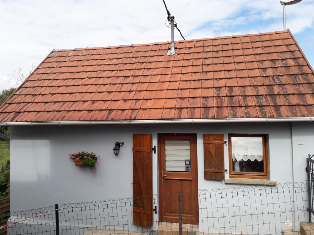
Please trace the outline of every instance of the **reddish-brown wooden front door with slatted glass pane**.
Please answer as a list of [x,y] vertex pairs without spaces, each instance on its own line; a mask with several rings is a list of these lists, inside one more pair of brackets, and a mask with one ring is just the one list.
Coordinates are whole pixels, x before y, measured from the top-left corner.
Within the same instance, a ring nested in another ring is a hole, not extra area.
[[159,134],[158,146],[160,221],[178,222],[182,191],[182,223],[198,224],[196,134]]

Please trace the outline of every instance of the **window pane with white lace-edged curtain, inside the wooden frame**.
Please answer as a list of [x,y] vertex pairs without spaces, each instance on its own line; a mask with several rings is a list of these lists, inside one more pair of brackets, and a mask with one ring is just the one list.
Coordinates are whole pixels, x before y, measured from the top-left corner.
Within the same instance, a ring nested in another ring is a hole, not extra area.
[[263,137],[231,137],[232,171],[264,172]]

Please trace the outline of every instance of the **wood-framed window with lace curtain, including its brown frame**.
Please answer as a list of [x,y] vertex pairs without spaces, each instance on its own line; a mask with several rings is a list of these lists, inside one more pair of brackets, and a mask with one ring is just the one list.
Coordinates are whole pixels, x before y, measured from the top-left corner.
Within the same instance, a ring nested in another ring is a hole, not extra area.
[[266,134],[229,134],[230,177],[268,179]]

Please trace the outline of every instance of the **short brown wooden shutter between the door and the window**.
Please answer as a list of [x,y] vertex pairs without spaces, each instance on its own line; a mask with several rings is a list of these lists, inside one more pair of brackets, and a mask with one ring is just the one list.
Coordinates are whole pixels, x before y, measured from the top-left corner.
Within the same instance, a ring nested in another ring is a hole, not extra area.
[[204,178],[225,179],[224,134],[204,134]]

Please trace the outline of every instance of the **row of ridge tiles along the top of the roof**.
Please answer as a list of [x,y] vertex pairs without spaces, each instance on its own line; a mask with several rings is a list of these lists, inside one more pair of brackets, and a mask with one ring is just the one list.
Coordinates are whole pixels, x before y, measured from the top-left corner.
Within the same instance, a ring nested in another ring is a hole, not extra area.
[[[289,30],[289,29],[288,29]],[[241,38],[248,36],[258,36],[258,35],[267,35],[267,34],[281,34],[281,33],[289,33],[288,30],[283,31],[273,31],[266,33],[257,33],[257,34],[242,34],[242,35],[232,35],[232,36],[219,36],[214,38],[201,38],[201,39],[188,39],[188,40],[178,40],[175,43],[181,42],[192,42],[192,41],[204,41],[204,40],[215,40],[215,39],[228,39],[228,38]],[[136,46],[151,46],[151,45],[161,45],[161,44],[170,44],[171,41],[166,42],[154,42],[154,43],[145,43],[145,44],[129,44],[129,45],[119,45],[119,46],[106,46],[106,47],[84,47],[84,48],[73,48],[73,49],[53,49],[52,52],[60,52],[60,51],[75,51],[75,50],[98,50],[98,49],[110,49],[110,48],[122,48],[122,47],[136,47]]]

